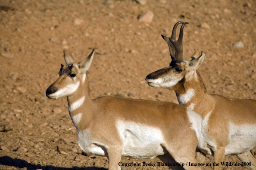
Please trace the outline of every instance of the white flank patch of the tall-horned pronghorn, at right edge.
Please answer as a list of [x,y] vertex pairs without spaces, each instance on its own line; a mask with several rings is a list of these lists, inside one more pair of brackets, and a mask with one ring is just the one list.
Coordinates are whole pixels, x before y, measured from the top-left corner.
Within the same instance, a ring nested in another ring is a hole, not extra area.
[[225,155],[245,153],[256,145],[256,125],[229,123],[229,141]]

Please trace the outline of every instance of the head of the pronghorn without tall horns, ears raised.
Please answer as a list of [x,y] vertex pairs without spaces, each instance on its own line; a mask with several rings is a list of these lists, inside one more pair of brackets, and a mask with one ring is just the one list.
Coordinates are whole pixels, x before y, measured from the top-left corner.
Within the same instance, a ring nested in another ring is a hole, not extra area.
[[49,99],[57,99],[64,96],[72,96],[78,90],[78,87],[85,82],[86,71],[91,66],[94,57],[94,50],[83,61],[76,64],[72,55],[64,49],[64,59],[66,66],[61,64],[59,78],[46,90],[46,96]]

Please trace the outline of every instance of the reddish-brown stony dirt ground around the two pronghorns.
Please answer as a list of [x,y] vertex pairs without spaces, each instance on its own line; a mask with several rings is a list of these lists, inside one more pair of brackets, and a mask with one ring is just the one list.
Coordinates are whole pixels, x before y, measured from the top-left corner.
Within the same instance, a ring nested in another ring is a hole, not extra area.
[[[139,21],[147,11],[153,20]],[[194,49],[206,53],[199,71],[210,93],[256,99],[255,0],[0,0],[0,169],[107,169],[106,157],[81,152],[66,98],[45,96],[65,64],[63,49],[76,61],[97,50],[88,77],[92,98],[178,103],[174,91],[144,80],[169,66],[169,49],[160,34],[170,36],[177,21],[190,23],[184,28],[184,58]],[[212,161],[207,155],[205,163]],[[236,156],[225,161],[240,162]],[[124,157],[122,162],[160,161]]]

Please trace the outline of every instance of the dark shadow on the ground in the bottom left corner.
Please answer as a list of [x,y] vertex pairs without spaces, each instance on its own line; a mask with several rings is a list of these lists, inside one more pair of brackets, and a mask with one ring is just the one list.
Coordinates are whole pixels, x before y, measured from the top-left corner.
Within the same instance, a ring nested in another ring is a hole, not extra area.
[[42,170],[107,170],[106,168],[100,168],[100,167],[72,167],[72,168],[66,168],[66,167],[54,167],[53,165],[47,165],[42,166],[41,164],[30,164],[25,160],[17,159],[17,158],[11,158],[9,156],[3,156],[0,157],[0,164],[6,165],[10,167],[16,167],[16,168],[26,168],[27,170],[36,170],[36,169],[42,169]]

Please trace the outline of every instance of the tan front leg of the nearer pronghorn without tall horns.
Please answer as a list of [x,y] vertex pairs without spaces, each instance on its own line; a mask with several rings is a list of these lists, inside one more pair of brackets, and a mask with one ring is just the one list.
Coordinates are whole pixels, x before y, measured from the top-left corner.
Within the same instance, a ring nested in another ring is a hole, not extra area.
[[121,161],[122,146],[111,146],[107,149],[107,152],[109,156],[109,170],[121,170],[118,164]]

